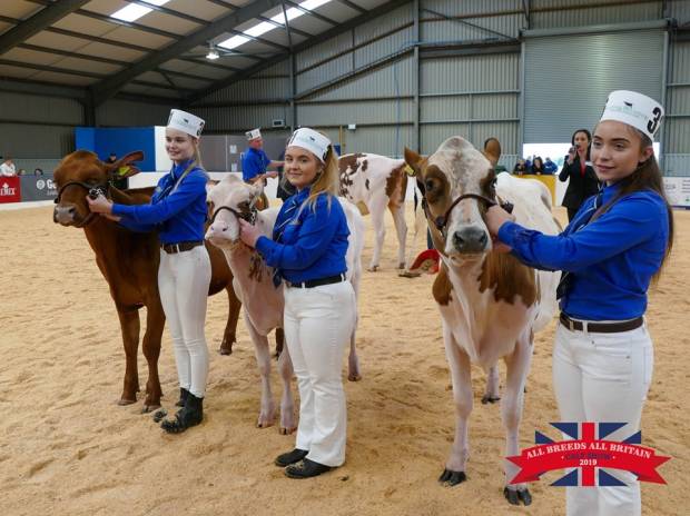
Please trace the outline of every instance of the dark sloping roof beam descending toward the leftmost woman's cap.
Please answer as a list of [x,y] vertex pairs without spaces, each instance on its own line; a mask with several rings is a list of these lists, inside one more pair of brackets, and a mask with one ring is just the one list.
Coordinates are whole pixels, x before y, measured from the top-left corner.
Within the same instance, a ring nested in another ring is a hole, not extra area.
[[[366,14],[361,14],[358,17],[352,18],[351,20],[347,20],[344,23],[341,23],[337,27],[334,27],[331,30],[327,30],[325,32],[322,32],[321,34],[317,34],[313,38],[309,38],[306,41],[303,41],[299,44],[296,44],[294,48],[294,52],[300,52],[303,50],[306,50],[308,48],[312,48],[318,43],[323,43],[324,41],[329,40],[331,38],[334,38],[338,34],[342,34],[343,32],[347,32],[348,30],[352,30],[353,28],[366,22],[366,21],[371,21],[372,19],[385,14],[387,12],[390,12],[392,9],[398,8],[401,6],[410,3],[412,0],[392,0],[388,1],[386,3],[383,3],[369,11],[366,12]],[[290,3],[288,1],[285,1],[285,3]],[[216,82],[215,85],[211,85],[209,88],[198,91],[194,95],[191,95],[190,97],[187,97],[185,99],[187,105],[194,105],[195,102],[198,102],[199,100],[201,100],[204,97],[209,96],[210,93],[213,93],[214,91],[218,91],[223,88],[227,88],[228,86],[233,86],[236,82],[239,82],[243,79],[247,79],[263,70],[266,70],[267,68],[270,68],[274,64],[277,64],[280,61],[284,61],[285,59],[287,59],[289,54],[277,54],[273,58],[266,59],[265,62],[263,63],[258,63],[255,64],[252,68],[247,68],[246,70],[243,70],[243,73],[239,73],[237,76],[233,76],[229,77],[227,79],[221,79],[218,82]]]

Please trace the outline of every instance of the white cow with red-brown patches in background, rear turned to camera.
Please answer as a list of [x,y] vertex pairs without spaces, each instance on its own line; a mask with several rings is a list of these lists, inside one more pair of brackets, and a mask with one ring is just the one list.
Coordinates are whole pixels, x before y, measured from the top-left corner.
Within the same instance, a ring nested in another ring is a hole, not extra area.
[[393,222],[397,232],[397,268],[404,269],[405,239],[407,238],[405,160],[371,153],[344,155],[338,159],[338,168],[341,171],[341,195],[354,204],[364,202],[372,214],[376,239],[368,270],[378,269],[381,248],[386,236],[383,219],[386,206],[393,215]]

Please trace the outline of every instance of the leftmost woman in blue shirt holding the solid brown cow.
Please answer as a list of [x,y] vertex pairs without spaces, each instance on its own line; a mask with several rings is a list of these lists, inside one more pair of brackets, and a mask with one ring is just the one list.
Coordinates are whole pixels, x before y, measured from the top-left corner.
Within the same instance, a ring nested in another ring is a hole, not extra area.
[[103,214],[132,231],[158,231],[158,290],[172,337],[180,410],[161,427],[171,434],[201,423],[208,377],[204,334],[210,284],[210,259],[204,246],[206,182],[199,136],[204,120],[174,109],[166,127],[170,172],[160,178],[149,205],[114,204],[103,196],[87,198],[91,211]]

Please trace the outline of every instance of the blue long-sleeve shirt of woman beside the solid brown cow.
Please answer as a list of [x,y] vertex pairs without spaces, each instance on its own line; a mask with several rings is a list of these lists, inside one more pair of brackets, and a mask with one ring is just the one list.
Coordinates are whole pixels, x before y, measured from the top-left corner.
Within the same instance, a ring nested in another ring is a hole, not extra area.
[[122,217],[120,225],[132,231],[157,230],[162,244],[204,240],[206,172],[195,167],[174,189],[189,162],[175,165],[160,178],[150,204],[112,205],[112,215]]

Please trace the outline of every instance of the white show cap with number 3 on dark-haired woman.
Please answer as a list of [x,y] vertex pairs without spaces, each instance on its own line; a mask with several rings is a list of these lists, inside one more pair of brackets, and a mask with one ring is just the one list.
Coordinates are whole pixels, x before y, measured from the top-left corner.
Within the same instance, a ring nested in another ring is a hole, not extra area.
[[654,99],[637,91],[611,91],[601,121],[617,120],[641,130],[650,139],[661,125],[663,108]]

